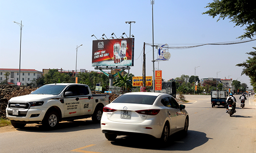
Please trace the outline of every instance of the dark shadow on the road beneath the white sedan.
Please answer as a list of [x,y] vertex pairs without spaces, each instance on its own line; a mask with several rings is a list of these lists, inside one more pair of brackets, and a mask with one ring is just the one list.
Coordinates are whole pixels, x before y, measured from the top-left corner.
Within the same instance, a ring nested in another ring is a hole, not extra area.
[[188,151],[205,144],[209,139],[211,138],[207,138],[206,133],[189,130],[185,137],[181,137],[180,133],[175,133],[170,136],[169,143],[166,146],[159,145],[158,139],[145,139],[130,136],[117,138],[114,142],[111,142],[111,144],[149,150]]

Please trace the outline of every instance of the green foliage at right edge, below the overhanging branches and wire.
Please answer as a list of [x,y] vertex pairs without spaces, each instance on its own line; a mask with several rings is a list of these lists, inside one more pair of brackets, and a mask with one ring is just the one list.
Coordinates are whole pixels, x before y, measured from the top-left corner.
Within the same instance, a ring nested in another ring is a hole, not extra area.
[[[253,47],[256,50],[256,47]],[[253,57],[248,57],[246,62],[237,64],[236,66],[244,67],[241,75],[245,74],[250,77],[250,83],[253,86],[253,90],[256,91],[256,51],[251,51],[249,54]]]

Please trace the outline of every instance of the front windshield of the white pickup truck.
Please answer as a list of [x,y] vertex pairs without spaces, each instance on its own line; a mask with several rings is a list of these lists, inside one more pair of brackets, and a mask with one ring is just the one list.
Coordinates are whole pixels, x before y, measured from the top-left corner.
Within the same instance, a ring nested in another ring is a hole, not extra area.
[[66,85],[44,85],[31,94],[51,94],[58,95],[66,87]]

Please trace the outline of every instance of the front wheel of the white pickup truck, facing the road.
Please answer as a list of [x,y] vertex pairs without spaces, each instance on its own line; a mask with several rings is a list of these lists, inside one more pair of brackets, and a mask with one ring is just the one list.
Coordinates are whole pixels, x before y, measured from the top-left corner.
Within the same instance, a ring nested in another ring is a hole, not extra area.
[[43,119],[43,126],[47,128],[47,130],[53,130],[58,126],[59,119],[58,113],[54,111],[49,111],[45,114]]

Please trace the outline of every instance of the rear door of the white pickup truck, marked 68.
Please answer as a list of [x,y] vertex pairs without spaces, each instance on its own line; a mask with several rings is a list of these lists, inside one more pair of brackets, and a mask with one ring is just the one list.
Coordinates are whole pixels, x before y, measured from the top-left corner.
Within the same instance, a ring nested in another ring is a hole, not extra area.
[[93,96],[90,95],[89,89],[85,85],[78,86],[80,94],[80,114],[92,114],[93,112]]

